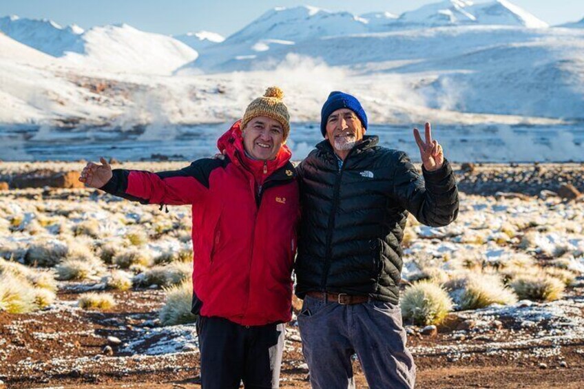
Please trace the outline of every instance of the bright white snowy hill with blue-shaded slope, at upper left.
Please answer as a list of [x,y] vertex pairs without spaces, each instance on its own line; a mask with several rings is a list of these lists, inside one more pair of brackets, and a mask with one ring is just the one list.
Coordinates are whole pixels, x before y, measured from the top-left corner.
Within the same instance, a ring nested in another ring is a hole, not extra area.
[[63,65],[112,72],[169,74],[194,61],[198,52],[171,36],[144,32],[127,24],[90,30],[62,28],[54,21],[3,17],[0,31],[36,50],[60,57]]

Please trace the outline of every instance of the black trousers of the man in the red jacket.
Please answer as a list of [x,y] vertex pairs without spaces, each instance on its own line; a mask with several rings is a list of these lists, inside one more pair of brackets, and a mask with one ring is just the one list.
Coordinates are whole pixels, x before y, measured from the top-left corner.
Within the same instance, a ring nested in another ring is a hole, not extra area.
[[284,324],[240,326],[222,317],[199,316],[202,389],[278,388]]

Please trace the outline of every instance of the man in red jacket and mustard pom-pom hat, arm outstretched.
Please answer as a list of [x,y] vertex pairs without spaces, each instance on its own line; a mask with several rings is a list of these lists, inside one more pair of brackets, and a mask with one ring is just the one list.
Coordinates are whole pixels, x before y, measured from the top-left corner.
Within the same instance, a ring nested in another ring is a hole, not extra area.
[[278,388],[284,323],[291,319],[298,183],[284,145],[289,114],[268,88],[218,140],[223,160],[176,171],[88,163],[87,186],[143,204],[191,204],[193,311],[202,387]]

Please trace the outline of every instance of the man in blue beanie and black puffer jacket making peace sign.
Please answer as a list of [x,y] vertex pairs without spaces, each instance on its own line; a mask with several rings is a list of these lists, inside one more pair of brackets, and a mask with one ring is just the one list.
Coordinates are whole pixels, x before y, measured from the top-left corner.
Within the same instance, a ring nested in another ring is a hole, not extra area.
[[417,129],[424,180],[403,151],[365,136],[357,99],[333,92],[321,112],[325,140],[299,167],[302,219],[295,263],[303,353],[313,388],[352,388],[357,354],[370,388],[413,388],[415,364],[399,309],[401,240],[408,212],[429,226],[456,219],[450,164]]

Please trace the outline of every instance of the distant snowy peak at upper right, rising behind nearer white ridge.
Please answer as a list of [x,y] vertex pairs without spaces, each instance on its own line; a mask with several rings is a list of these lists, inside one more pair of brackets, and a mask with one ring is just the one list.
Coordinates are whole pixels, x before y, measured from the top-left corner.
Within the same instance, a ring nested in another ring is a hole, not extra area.
[[496,0],[474,4],[468,0],[446,0],[404,12],[395,26],[435,27],[441,25],[483,24],[516,25],[526,28],[546,28],[547,23],[509,1]]

